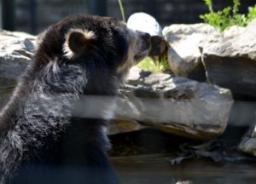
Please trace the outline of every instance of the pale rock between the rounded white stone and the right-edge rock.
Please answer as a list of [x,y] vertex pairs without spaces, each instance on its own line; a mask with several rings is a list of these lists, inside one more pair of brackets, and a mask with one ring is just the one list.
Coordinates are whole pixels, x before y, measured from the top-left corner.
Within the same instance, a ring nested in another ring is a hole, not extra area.
[[172,25],[163,30],[166,41],[171,45],[168,60],[176,76],[206,81],[199,46],[202,41],[219,37],[218,31],[207,24]]

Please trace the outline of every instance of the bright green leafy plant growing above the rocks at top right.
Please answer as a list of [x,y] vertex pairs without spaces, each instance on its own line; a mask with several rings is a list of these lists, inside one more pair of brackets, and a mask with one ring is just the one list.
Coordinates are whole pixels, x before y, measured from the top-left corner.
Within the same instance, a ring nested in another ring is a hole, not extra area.
[[201,14],[200,18],[207,24],[217,27],[220,32],[230,26],[247,26],[247,24],[256,18],[256,6],[248,9],[248,14],[239,14],[240,0],[232,0],[233,6],[226,7],[222,10],[215,11],[212,8],[212,0],[204,0],[209,13]]

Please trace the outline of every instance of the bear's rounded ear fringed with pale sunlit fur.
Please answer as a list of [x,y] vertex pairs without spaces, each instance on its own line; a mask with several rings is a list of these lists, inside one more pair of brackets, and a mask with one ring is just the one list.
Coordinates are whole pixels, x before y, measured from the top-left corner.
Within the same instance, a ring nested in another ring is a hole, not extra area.
[[73,29],[67,32],[65,43],[63,45],[64,55],[71,59],[73,56],[79,55],[86,48],[90,47],[91,40],[96,38],[92,31]]

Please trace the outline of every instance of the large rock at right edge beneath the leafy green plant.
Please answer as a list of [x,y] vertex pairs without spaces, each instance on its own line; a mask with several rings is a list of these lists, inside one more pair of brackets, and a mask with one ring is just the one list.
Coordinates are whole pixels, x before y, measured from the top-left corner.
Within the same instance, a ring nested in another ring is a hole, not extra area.
[[233,27],[224,37],[202,46],[207,78],[236,97],[256,97],[256,20],[246,28]]

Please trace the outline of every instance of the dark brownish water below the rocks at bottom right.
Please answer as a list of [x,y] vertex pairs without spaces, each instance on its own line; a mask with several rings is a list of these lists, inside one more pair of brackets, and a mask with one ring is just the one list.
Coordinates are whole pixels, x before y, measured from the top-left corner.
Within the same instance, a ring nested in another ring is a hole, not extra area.
[[170,155],[111,158],[124,184],[255,184],[256,164],[215,164],[199,159],[172,166]]

